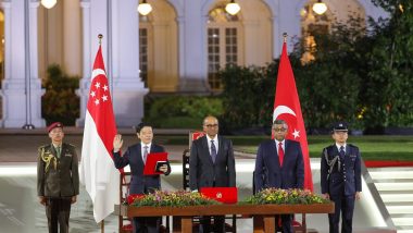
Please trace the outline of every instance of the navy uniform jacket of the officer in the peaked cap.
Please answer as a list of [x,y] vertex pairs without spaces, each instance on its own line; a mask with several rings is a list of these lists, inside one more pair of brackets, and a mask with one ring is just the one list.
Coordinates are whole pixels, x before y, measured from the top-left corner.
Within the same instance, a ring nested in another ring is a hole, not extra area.
[[[324,148],[327,151],[328,160],[333,160],[339,156],[336,145]],[[324,151],[323,150],[323,151]],[[330,196],[335,195],[354,195],[355,192],[361,192],[361,156],[356,146],[347,144],[345,163],[341,163],[340,171],[338,170],[338,162],[333,168],[331,174],[328,175],[327,160],[322,155],[321,162],[321,183],[322,193],[328,193]]]

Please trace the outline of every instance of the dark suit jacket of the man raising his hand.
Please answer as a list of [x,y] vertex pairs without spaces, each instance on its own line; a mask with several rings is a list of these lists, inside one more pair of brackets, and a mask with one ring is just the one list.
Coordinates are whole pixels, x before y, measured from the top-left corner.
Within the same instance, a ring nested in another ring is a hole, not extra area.
[[[163,147],[152,143],[150,152],[163,151],[165,151]],[[129,186],[129,194],[148,194],[154,189],[161,189],[160,175],[143,175],[143,160],[140,143],[128,147],[123,157],[121,157],[120,152],[114,152],[113,161],[116,169],[122,169],[127,164],[130,165],[132,181]],[[168,175],[170,173],[171,165],[167,163],[167,172],[165,172],[165,175]]]

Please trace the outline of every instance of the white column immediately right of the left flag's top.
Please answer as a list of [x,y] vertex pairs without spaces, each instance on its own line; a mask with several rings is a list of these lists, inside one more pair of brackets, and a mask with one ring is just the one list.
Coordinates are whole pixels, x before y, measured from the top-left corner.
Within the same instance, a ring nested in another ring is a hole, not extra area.
[[139,76],[139,13],[137,0],[113,1],[113,108],[118,127],[130,127],[143,118],[148,94]]

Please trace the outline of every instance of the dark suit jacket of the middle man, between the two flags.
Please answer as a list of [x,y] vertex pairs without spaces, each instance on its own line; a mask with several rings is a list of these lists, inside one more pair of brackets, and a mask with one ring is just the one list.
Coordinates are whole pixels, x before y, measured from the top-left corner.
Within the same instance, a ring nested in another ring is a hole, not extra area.
[[235,159],[233,143],[222,136],[218,138],[218,151],[215,163],[212,161],[206,136],[192,142],[189,157],[189,187],[235,187]]

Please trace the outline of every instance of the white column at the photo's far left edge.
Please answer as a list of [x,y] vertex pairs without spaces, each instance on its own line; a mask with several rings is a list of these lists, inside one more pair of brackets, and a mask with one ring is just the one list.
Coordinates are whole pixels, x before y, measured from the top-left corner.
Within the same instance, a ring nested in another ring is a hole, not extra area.
[[[25,12],[28,2],[28,15]],[[13,0],[2,2],[4,10],[5,73],[1,95],[3,97],[3,127],[22,127],[33,124],[43,127],[41,118],[41,82],[38,78],[37,8],[38,1]],[[25,16],[28,16],[29,32],[25,32]],[[25,37],[29,39],[26,48]],[[13,41],[11,41],[13,39]],[[29,74],[26,78],[26,58],[29,56]],[[27,82],[29,81],[29,82]],[[27,88],[26,88],[27,87]],[[29,91],[26,91],[29,90]],[[27,105],[27,108],[25,108]],[[27,110],[27,111],[26,111]],[[27,115],[26,115],[27,114]]]

